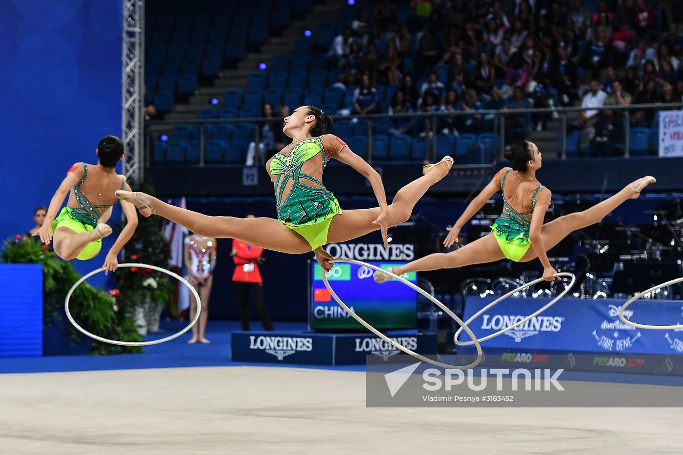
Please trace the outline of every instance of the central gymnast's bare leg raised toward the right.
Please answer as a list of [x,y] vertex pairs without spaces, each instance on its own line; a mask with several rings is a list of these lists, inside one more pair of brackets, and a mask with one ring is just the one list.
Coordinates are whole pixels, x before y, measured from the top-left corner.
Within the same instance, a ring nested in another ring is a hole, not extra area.
[[[407,221],[410,214],[413,213],[417,201],[441,178],[441,174],[434,169],[400,189],[389,206],[389,226]],[[379,207],[345,210],[342,215],[332,219],[327,241],[330,243],[344,242],[379,230],[379,226],[372,224],[372,222],[377,219],[380,212]]]

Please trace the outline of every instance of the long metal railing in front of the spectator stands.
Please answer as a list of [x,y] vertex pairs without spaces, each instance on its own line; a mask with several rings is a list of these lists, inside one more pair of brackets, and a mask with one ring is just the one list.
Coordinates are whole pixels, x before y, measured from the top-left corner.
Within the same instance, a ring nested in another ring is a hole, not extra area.
[[[411,119],[414,120],[411,130],[407,133],[410,136],[424,137],[425,140],[425,150],[427,161],[434,161],[434,158],[438,156],[436,150],[437,144],[436,136],[444,128],[452,130],[454,125],[461,124],[458,118],[463,118],[466,116],[481,115],[482,120],[475,120],[473,123],[476,124],[478,132],[481,133],[492,133],[493,143],[492,143],[492,158],[499,159],[502,158],[503,152],[508,143],[511,141],[526,138],[533,132],[533,126],[538,121],[547,121],[553,115],[559,116],[561,122],[561,146],[559,147],[559,158],[567,158],[568,155],[568,135],[570,134],[570,129],[572,133],[574,131],[582,131],[582,126],[579,125],[579,120],[581,119],[582,111],[595,110],[600,111],[600,114],[596,115],[593,121],[596,122],[600,118],[606,116],[607,114],[613,115],[617,113],[621,115],[622,120],[622,135],[621,142],[616,140],[619,137],[611,138],[612,145],[617,146],[617,150],[622,150],[622,155],[624,157],[631,156],[632,144],[630,143],[630,132],[632,128],[643,126],[652,130],[653,128],[658,128],[658,111],[668,111],[672,109],[683,109],[683,102],[678,103],[661,103],[661,104],[648,104],[648,105],[609,105],[602,107],[594,107],[584,109],[582,107],[559,107],[553,108],[530,108],[530,109],[486,109],[482,111],[445,111],[445,112],[419,112],[419,113],[394,113],[394,114],[370,114],[370,115],[331,115],[331,118],[335,122],[366,122],[367,131],[367,161],[372,163],[372,138],[376,133],[375,121],[381,119],[391,119],[395,121],[397,119]],[[635,114],[634,114],[635,111]],[[641,112],[646,113],[641,115]],[[654,118],[654,120],[648,118]],[[533,120],[532,120],[533,119]],[[205,165],[205,143],[206,143],[206,132],[205,125],[209,124],[252,124],[253,125],[253,141],[255,143],[255,158],[256,163],[258,163],[259,157],[259,144],[261,143],[261,125],[266,122],[276,122],[281,124],[282,118],[234,118],[234,119],[213,119],[213,120],[183,120],[183,121],[152,121],[149,122],[145,130],[146,141],[145,141],[145,152],[147,156],[147,163],[152,163],[151,154],[151,144],[157,140],[161,134],[168,134],[173,126],[178,124],[186,125],[198,125],[199,126],[199,165]],[[522,126],[522,132],[518,131]],[[618,122],[617,122],[618,126]],[[512,132],[510,131],[512,129]],[[334,131],[332,131],[334,133]],[[462,129],[458,130],[458,134],[470,133],[469,130]],[[581,133],[579,133],[580,135]],[[523,136],[523,137],[520,137]],[[576,133],[573,133],[572,137],[576,138]],[[342,139],[347,139],[342,137]],[[616,140],[615,140],[616,139]],[[573,139],[572,139],[573,141]],[[576,146],[576,151],[580,152],[581,144]],[[574,150],[574,144],[572,143],[572,150]],[[542,150],[544,151],[544,150]],[[547,150],[546,150],[547,151]]]

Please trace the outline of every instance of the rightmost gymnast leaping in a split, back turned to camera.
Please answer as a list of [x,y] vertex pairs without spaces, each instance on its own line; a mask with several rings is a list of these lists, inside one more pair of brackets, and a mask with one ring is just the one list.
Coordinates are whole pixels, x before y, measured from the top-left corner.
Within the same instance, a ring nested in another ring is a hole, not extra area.
[[[404,266],[390,268],[389,271],[402,275],[408,272],[484,264],[503,258],[515,262],[528,262],[538,258],[543,264],[543,278],[553,281],[553,274],[557,271],[550,265],[546,251],[571,232],[598,223],[626,199],[636,199],[647,185],[656,182],[652,176],[639,178],[619,193],[583,212],[570,213],[544,225],[551,193],[536,180],[536,171],[542,164],[541,152],[534,143],[518,141],[505,152],[505,158],[512,161],[512,167],[501,169],[473,199],[455,225],[448,228],[449,234],[443,244],[451,247],[456,243],[462,227],[500,190],[503,192],[503,213],[493,223],[490,234],[455,251],[430,254]],[[374,275],[378,283],[391,278],[385,272]]]

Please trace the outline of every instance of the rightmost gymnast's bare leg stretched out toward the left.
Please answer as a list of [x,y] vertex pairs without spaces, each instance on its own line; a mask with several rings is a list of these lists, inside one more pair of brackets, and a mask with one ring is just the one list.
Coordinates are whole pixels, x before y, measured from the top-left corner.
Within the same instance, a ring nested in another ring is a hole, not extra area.
[[[505,258],[498,241],[493,234],[488,234],[462,248],[450,253],[434,253],[424,258],[408,262],[408,264],[390,269],[396,275],[408,272],[439,270],[441,268],[464,267],[472,264],[485,264]],[[390,279],[390,275],[375,273],[375,281],[383,283]]]

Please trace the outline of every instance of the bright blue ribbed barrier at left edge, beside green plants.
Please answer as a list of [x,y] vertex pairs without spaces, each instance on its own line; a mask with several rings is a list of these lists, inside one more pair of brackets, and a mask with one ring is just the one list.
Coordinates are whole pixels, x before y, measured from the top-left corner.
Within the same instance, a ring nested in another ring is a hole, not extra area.
[[0,357],[42,355],[42,265],[0,264]]

